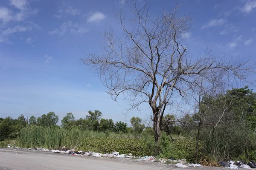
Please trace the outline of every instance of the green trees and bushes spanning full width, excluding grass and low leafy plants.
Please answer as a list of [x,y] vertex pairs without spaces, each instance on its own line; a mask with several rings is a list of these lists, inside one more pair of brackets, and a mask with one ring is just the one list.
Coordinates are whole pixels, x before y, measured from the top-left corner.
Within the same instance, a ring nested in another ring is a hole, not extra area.
[[[30,125],[129,133],[134,138],[145,138],[145,141],[154,139],[153,128],[145,127],[139,117],[132,117],[131,127],[128,127],[121,121],[114,123],[112,119],[103,119],[102,113],[96,110],[88,111],[88,115],[80,119],[67,113],[61,120],[61,126],[56,125],[57,122],[58,116],[54,112],[38,118],[31,116],[28,123],[23,115],[17,119],[1,118],[0,140],[16,138],[22,127]],[[162,135],[158,145],[151,142],[148,143],[148,148],[157,147],[159,150],[155,150],[155,153],[160,153],[162,157],[173,157],[177,151],[174,143],[177,139],[186,138],[191,142],[184,143],[184,147],[195,148],[194,153],[191,155],[186,150],[177,153],[182,153],[195,162],[206,157],[213,160],[256,160],[256,93],[246,86],[228,90],[224,94],[201,95],[193,114],[185,114],[180,119],[167,114],[161,119],[160,130]]]

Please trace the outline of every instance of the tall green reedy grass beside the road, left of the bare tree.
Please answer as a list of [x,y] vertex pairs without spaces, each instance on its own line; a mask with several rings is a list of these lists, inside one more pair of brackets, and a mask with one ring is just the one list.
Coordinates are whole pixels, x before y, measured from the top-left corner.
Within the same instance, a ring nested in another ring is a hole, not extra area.
[[59,127],[43,127],[30,125],[20,130],[17,137],[19,147],[44,147],[58,149],[66,148],[76,149],[81,147],[86,138],[125,138],[134,139],[132,134],[102,133],[89,130],[81,130],[78,127],[64,129]]

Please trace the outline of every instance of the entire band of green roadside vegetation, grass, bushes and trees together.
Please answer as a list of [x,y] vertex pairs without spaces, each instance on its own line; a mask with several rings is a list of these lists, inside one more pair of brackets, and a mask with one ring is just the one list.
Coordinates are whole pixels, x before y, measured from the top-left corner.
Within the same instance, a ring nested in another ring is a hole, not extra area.
[[[72,113],[56,125],[58,116],[49,112],[27,122],[0,119],[0,145],[76,149],[110,153],[133,153],[183,159],[190,162],[256,159],[256,93],[248,87],[232,89],[226,94],[204,96],[198,111],[175,119],[163,116],[161,136],[154,141],[154,129],[145,126],[139,117],[132,117],[131,127],[124,122],[102,118],[98,110],[88,111],[85,118],[75,119]],[[158,147],[160,152],[157,150]]]

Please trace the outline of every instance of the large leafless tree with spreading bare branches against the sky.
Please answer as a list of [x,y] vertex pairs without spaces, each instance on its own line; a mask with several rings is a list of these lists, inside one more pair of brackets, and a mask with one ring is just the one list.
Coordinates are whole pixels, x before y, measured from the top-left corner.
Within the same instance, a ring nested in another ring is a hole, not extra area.
[[129,2],[125,12],[131,17],[125,17],[123,9],[118,14],[121,38],[113,30],[106,31],[102,54],[88,54],[81,61],[99,73],[112,99],[124,94],[131,109],[149,104],[157,142],[164,111],[173,97],[176,100],[181,95],[184,99],[192,85],[199,83],[198,78],[213,82],[212,73],[220,70],[228,81],[245,81],[254,66],[247,67],[249,60],[219,59],[209,49],[200,57],[189,55],[182,43],[191,28],[191,18],[180,16],[179,6],[156,16],[147,3]]

